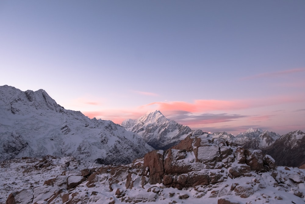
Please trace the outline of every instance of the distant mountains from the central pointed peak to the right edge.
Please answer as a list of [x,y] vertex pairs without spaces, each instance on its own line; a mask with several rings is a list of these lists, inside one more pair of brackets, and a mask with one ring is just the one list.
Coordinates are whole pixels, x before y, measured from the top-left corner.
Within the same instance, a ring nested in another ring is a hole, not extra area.
[[235,143],[244,148],[260,149],[275,158],[277,165],[299,167],[305,163],[305,133],[302,131],[289,132],[279,135],[275,132],[249,128],[234,136],[227,132],[207,133],[202,130],[191,130],[188,126],[178,124],[163,116],[160,111],[146,113],[144,116],[122,122],[122,127],[140,135],[145,142],[155,149],[166,150],[178,144],[187,135],[206,136],[215,139],[222,138],[229,143]]

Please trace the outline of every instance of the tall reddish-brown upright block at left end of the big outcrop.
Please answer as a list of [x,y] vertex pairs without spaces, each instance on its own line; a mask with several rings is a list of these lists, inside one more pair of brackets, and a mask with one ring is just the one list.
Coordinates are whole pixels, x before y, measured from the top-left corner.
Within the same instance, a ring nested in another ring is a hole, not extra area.
[[164,174],[163,150],[153,150],[144,156],[144,167],[149,167],[149,183],[162,183]]

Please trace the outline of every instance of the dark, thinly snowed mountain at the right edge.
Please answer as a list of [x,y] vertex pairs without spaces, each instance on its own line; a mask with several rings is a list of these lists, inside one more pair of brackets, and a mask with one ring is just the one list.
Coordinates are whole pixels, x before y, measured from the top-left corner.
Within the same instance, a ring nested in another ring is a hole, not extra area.
[[305,133],[297,130],[282,135],[272,145],[263,149],[277,165],[300,167],[305,164]]

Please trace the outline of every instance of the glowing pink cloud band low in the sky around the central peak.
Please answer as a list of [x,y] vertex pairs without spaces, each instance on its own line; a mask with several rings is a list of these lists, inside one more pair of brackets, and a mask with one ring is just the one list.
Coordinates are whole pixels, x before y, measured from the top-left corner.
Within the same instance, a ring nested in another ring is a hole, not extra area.
[[[188,125],[190,127],[205,127],[207,124],[210,124],[211,127],[215,126],[216,128],[217,126],[220,127],[224,124],[251,126],[259,122],[270,121],[272,117],[275,116],[274,114],[270,113],[268,115],[264,113],[263,115],[253,115],[253,111],[250,109],[295,102],[305,102],[305,97],[275,96],[270,98],[232,101],[200,99],[195,100],[193,103],[183,101],[152,102],[144,106],[131,108],[129,110],[109,109],[104,111],[84,111],[83,113],[89,118],[96,117],[101,118],[102,120],[111,120],[116,124],[121,124],[122,121],[126,119],[138,119],[147,112],[160,110],[165,117],[173,119],[183,125]],[[239,115],[239,110],[242,110],[242,112],[246,111],[247,115]],[[217,112],[213,113],[213,111]],[[219,111],[223,112],[219,113]],[[233,112],[235,114],[229,114],[226,112]]]

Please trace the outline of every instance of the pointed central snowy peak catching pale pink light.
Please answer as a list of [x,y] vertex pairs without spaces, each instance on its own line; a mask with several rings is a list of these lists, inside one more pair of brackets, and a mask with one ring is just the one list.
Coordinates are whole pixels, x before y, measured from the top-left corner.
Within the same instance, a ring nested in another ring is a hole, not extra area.
[[158,110],[146,113],[136,120],[124,120],[121,126],[137,133],[150,146],[160,150],[166,150],[178,144],[191,133],[193,135],[205,134],[201,130],[192,131],[188,126],[167,119]]

